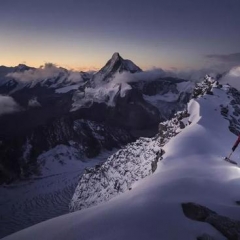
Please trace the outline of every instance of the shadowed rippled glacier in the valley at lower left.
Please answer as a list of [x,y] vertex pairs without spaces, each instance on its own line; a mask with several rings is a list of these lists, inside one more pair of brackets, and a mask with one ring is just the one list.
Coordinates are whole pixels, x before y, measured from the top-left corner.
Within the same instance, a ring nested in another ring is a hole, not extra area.
[[58,145],[41,154],[41,176],[0,186],[0,238],[69,212],[79,177],[114,151],[89,160],[72,146]]

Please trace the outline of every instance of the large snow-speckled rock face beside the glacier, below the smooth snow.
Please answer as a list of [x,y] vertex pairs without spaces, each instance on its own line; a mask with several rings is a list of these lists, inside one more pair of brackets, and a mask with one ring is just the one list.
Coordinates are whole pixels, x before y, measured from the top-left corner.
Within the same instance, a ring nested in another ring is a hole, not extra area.
[[70,210],[81,210],[131,189],[134,182],[156,170],[161,158],[158,141],[140,138],[109,157],[105,163],[86,169],[70,203]]

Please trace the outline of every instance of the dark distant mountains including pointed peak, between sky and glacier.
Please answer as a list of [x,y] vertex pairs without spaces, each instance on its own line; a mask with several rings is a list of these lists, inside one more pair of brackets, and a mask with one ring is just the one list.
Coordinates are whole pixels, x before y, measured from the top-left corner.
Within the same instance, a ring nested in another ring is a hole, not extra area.
[[0,182],[41,175],[39,156],[60,144],[77,146],[81,160],[154,135],[184,109],[194,84],[143,73],[119,53],[93,75],[53,64],[1,66]]

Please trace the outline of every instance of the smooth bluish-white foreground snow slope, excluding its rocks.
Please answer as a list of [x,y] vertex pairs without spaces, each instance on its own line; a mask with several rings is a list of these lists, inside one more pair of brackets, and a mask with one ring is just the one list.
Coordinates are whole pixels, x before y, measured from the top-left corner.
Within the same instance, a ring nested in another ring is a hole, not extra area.
[[[240,169],[222,160],[236,136],[220,104],[231,108],[233,98],[227,86],[214,85],[211,91],[191,100],[191,124],[165,144],[157,170],[131,191],[4,239],[196,239],[203,233],[225,239],[210,225],[186,218],[181,209],[181,203],[192,201],[239,220]],[[238,154],[234,160],[240,164]]]

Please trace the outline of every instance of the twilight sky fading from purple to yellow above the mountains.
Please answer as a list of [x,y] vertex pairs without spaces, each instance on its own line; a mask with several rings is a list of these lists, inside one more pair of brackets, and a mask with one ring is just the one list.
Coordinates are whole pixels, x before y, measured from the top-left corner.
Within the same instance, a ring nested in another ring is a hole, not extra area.
[[0,65],[143,69],[240,65],[240,0],[3,0]]

